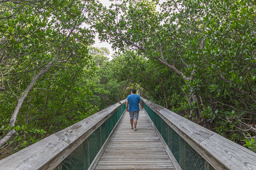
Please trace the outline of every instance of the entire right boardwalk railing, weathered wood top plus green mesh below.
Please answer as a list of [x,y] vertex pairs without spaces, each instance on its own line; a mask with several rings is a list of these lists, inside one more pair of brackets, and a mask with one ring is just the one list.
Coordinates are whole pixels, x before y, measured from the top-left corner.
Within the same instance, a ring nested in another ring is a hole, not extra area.
[[256,169],[256,154],[215,132],[142,98],[176,169]]

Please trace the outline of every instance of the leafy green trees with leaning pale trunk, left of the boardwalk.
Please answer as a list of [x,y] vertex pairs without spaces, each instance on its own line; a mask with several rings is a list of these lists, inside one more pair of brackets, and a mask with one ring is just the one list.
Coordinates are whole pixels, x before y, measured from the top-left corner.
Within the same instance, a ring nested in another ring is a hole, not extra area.
[[[0,93],[0,150],[7,149],[1,156],[88,117],[98,107],[89,103],[93,93],[86,81],[96,70],[88,50],[94,31],[80,28],[94,19],[95,1],[0,4],[0,72],[5,85]],[[15,133],[2,143],[10,131]]]

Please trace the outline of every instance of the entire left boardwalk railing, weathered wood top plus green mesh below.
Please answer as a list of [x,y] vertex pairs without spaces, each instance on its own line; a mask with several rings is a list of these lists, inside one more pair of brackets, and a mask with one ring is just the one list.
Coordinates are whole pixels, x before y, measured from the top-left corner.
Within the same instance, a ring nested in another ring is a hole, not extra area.
[[125,100],[0,161],[1,170],[93,169],[125,110]]

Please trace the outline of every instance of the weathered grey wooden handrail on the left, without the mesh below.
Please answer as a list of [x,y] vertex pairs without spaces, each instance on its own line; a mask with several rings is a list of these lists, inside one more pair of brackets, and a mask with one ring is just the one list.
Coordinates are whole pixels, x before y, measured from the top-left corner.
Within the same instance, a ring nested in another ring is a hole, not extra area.
[[8,156],[0,161],[0,169],[54,169],[121,107],[125,101],[122,100]]

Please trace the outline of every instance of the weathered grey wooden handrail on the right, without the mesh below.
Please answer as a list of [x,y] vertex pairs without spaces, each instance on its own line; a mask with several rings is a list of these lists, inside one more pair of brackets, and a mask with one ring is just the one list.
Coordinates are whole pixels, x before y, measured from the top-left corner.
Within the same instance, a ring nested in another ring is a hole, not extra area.
[[256,169],[256,153],[166,108],[141,99],[215,169]]

